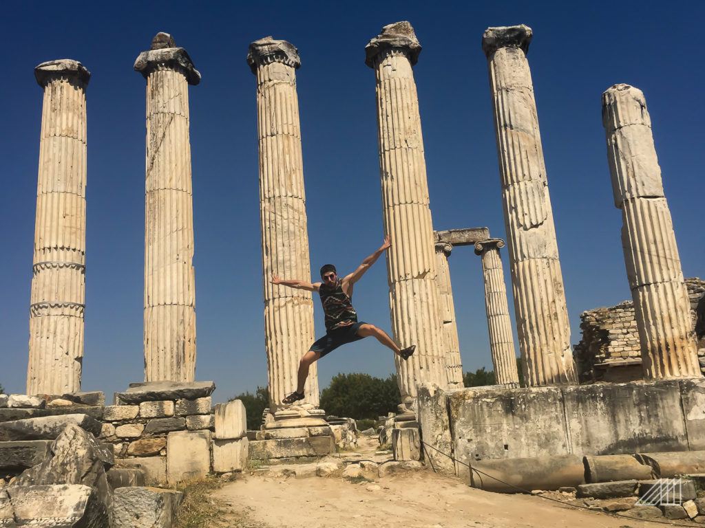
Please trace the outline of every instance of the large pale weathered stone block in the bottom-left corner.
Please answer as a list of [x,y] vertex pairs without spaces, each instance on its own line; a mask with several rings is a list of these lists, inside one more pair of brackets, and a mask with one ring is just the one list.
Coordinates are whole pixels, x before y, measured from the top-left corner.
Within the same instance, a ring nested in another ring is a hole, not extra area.
[[0,489],[0,526],[102,528],[108,511],[90,486],[7,486]]

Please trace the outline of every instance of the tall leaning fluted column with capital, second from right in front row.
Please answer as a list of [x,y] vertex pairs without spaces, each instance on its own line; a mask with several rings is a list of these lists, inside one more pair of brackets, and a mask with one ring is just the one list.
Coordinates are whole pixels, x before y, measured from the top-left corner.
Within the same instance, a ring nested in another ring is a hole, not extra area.
[[531,28],[482,36],[494,106],[519,348],[530,386],[577,382],[531,71]]

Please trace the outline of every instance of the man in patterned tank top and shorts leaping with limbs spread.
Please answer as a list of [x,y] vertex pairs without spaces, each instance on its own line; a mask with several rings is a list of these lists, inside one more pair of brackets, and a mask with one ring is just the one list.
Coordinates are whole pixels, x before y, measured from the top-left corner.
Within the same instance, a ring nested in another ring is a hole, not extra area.
[[364,337],[374,336],[377,341],[391,348],[403,360],[409,359],[414,353],[416,345],[401,350],[384,330],[367,322],[358,322],[357,312],[353,308],[353,285],[362,278],[364,272],[369,270],[389,246],[391,246],[391,242],[387,236],[384,239],[384,244],[379,246],[377,251],[362,260],[362,264],[357,267],[357,270],[350,273],[350,275],[345,275],[342,279],[338,278],[336,267],[332,264],[326,264],[321,268],[321,279],[323,279],[323,282],[311,283],[303,280],[283,280],[276,275],[272,275],[272,284],[318,291],[321,296],[323,311],[326,315],[326,335],[312,344],[309,351],[301,358],[296,390],[286,396],[282,403],[289,404],[302,400],[304,398],[304,384],[306,383],[311,364],[345,343],[352,343]]

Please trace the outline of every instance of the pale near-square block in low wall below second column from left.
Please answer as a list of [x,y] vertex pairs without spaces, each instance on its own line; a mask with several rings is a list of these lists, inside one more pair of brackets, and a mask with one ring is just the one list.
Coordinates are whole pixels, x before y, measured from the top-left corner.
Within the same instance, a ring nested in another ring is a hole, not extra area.
[[168,434],[166,479],[169,484],[205,477],[210,470],[210,431],[178,431]]

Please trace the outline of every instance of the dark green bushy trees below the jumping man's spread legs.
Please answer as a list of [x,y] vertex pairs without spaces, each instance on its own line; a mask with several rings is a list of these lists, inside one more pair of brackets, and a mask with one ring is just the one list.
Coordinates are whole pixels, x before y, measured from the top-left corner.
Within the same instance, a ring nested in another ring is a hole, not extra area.
[[353,372],[333,376],[321,392],[321,408],[329,415],[374,420],[395,413],[400,398],[395,375],[381,379]]

